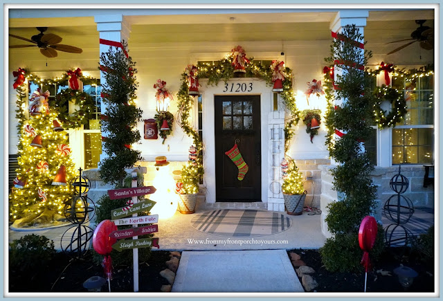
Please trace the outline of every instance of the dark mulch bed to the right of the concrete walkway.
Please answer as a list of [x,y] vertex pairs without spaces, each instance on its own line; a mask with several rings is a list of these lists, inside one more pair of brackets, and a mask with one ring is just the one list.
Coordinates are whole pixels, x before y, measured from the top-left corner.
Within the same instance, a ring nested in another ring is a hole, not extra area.
[[[312,275],[318,286],[317,292],[363,292],[365,287],[365,273],[330,273],[321,262],[318,250],[291,250],[301,256],[307,266],[314,268]],[[373,262],[372,271],[368,272],[367,292],[433,292],[434,291],[434,263],[424,262],[419,254],[410,253],[402,248],[386,250],[377,262]],[[400,264],[413,268],[418,276],[413,284],[405,290],[399,284],[398,277],[393,272]],[[381,275],[377,271],[390,272],[390,275]],[[300,279],[300,278],[299,278]],[[300,279],[301,282],[301,279]]]

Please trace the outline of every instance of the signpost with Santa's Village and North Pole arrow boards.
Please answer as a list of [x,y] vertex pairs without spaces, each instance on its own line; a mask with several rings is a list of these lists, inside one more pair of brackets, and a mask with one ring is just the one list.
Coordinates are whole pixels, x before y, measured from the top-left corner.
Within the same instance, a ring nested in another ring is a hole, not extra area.
[[[121,252],[122,250],[132,249],[134,259],[134,292],[138,291],[138,248],[147,248],[150,246],[159,246],[159,238],[138,239],[138,235],[145,235],[159,231],[158,225],[144,226],[138,228],[138,224],[154,224],[159,221],[159,215],[147,215],[138,217],[138,212],[150,211],[156,202],[147,199],[138,203],[138,198],[145,194],[156,192],[154,186],[137,187],[137,173],[132,172],[132,188],[122,188],[108,190],[109,199],[127,199],[132,198],[132,206],[114,209],[111,211],[111,219],[116,226],[132,225],[133,228],[125,230],[116,230],[109,234],[109,237],[121,239],[112,245],[112,248]],[[132,217],[128,217],[132,215]],[[127,217],[123,219],[122,217]],[[132,239],[124,239],[132,237]]]

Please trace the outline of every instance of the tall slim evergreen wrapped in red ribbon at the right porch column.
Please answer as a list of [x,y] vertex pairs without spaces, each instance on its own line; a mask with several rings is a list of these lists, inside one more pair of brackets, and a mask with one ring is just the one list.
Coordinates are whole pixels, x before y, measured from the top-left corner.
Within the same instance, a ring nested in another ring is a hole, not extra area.
[[[374,99],[370,93],[370,78],[356,67],[365,66],[372,55],[352,44],[363,40],[356,26],[345,26],[342,34],[345,41],[334,39],[332,55],[325,59],[331,64],[341,62],[343,74],[336,78],[335,99],[346,101],[329,111],[327,118],[329,128],[338,129],[345,135],[329,149],[338,163],[332,171],[338,201],[327,206],[325,221],[333,237],[327,239],[320,253],[328,271],[362,271],[359,226],[363,217],[373,212],[377,188],[370,176],[374,167],[363,149],[363,142],[370,136]],[[383,229],[379,226],[373,257],[377,257],[382,246]]]

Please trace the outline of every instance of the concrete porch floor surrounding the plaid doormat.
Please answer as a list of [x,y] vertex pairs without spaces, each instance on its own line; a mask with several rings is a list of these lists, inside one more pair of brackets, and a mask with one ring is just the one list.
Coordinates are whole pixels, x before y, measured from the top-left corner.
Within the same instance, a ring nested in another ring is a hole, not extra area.
[[[275,235],[262,237],[221,237],[200,232],[192,228],[190,220],[195,215],[214,210],[214,208],[201,209],[197,207],[195,214],[182,215],[179,211],[169,219],[159,219],[159,232],[154,237],[159,237],[159,250],[269,250],[307,248],[318,249],[325,243],[326,238],[320,230],[320,215],[287,215],[292,220],[292,226]],[[283,212],[280,212],[284,214]],[[286,215],[286,214],[284,214]],[[55,248],[60,250],[60,239],[63,233],[73,225],[59,228],[46,228],[44,230],[15,231],[9,230],[8,241],[19,239],[24,235],[44,235],[52,239]],[[94,228],[94,227],[93,227]],[[70,235],[69,235],[70,236]],[[68,237],[69,237],[68,236]],[[152,250],[157,250],[153,248]]]

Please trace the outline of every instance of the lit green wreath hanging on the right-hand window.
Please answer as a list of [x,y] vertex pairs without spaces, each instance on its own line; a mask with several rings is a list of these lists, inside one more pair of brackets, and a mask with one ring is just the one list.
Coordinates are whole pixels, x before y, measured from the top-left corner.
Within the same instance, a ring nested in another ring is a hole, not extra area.
[[[406,100],[397,89],[393,89],[384,84],[374,91],[374,122],[377,122],[381,129],[395,127],[397,122],[401,122],[408,112]],[[388,113],[381,109],[381,102],[388,101],[392,104],[392,109]]]

